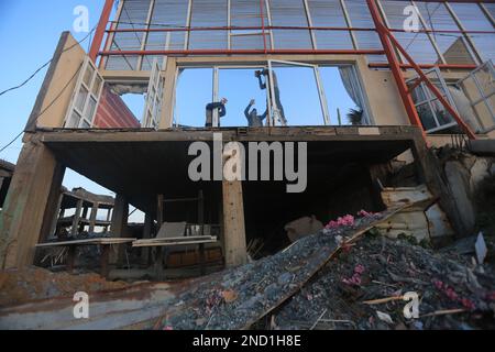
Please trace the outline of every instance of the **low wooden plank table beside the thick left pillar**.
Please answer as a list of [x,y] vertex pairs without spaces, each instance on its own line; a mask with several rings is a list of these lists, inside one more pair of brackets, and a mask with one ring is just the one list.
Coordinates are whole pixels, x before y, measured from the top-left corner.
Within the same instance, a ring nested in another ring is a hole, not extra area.
[[73,241],[64,241],[64,242],[51,242],[51,243],[41,243],[36,244],[36,249],[46,249],[46,248],[68,248],[68,256],[67,256],[67,270],[72,272],[74,270],[74,262],[76,260],[76,250],[79,246],[86,245],[99,245],[101,246],[101,256],[100,256],[100,274],[102,277],[108,276],[108,264],[109,264],[109,255],[110,248],[112,245],[124,245],[134,242],[136,239],[120,239],[120,238],[99,238],[99,239],[87,239],[87,240],[73,240]]

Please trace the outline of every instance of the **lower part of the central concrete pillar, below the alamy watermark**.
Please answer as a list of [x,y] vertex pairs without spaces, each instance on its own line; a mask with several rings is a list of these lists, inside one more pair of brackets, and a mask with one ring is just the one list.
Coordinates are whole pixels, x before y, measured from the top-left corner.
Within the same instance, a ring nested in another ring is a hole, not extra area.
[[242,182],[223,180],[222,189],[226,265],[232,267],[248,262]]

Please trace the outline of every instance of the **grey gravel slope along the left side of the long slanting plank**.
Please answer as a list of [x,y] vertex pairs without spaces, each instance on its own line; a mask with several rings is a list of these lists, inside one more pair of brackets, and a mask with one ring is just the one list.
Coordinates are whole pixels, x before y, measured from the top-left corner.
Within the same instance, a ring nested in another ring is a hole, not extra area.
[[158,329],[243,329],[297,293],[334,254],[345,237],[364,233],[393,211],[345,218],[286,250],[188,285]]

